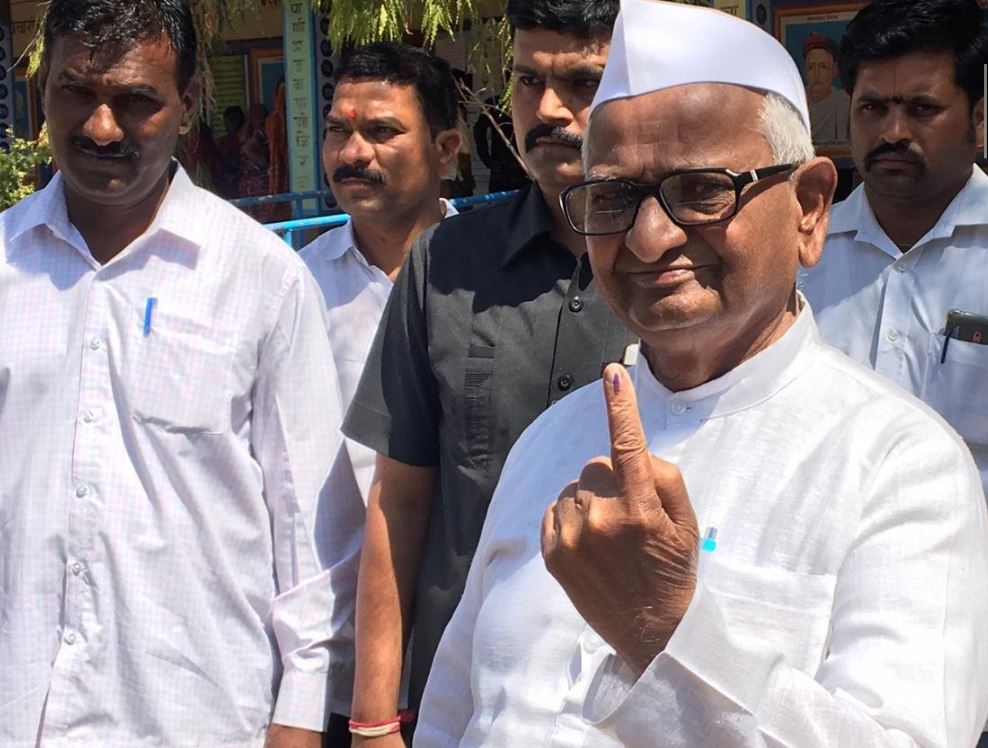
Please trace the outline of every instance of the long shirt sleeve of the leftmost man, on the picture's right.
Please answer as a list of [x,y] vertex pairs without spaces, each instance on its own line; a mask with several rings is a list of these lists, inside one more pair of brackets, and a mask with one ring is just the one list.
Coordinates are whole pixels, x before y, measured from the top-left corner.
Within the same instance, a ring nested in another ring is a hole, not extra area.
[[341,442],[340,389],[315,281],[293,263],[282,290],[259,354],[251,423],[271,515],[278,589],[271,617],[284,668],[273,721],[321,731],[333,589],[314,527],[319,501],[333,499],[325,491]]

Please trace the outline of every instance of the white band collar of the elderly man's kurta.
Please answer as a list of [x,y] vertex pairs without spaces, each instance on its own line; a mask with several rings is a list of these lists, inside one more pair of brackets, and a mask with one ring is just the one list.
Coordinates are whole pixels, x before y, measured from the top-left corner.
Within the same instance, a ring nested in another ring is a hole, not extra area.
[[810,364],[812,356],[807,354],[822,345],[813,312],[803,296],[799,298],[799,316],[781,338],[699,387],[672,392],[655,378],[644,357],[640,358],[632,378],[642,404],[649,408],[658,405],[685,420],[701,421],[746,410],[774,395]]

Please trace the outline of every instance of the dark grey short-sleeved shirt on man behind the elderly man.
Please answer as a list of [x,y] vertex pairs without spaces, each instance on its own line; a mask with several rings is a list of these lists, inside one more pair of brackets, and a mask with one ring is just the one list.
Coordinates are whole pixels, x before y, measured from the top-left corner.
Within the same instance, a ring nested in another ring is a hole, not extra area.
[[551,226],[541,192],[529,188],[425,232],[395,283],[343,426],[392,459],[439,468],[412,621],[412,706],[463,592],[508,450],[634,342],[597,295],[589,264],[556,242]]

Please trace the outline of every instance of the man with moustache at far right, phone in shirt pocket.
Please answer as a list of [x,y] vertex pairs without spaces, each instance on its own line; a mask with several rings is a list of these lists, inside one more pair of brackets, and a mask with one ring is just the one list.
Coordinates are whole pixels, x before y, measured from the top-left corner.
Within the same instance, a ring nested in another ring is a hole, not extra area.
[[946,329],[951,309],[988,315],[986,55],[977,0],[881,0],[851,21],[840,70],[864,183],[801,287],[824,338],[939,412],[988,487],[988,345]]

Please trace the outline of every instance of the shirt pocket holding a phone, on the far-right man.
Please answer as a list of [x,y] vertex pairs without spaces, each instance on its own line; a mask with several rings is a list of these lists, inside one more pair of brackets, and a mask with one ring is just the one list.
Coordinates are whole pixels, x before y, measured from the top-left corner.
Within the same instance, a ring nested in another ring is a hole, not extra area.
[[944,351],[945,341],[930,336],[922,399],[968,444],[988,445],[988,345],[951,338]]

